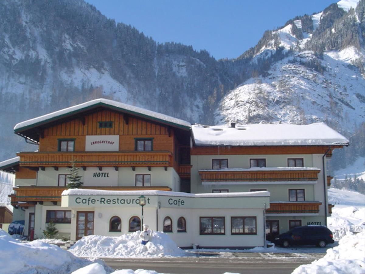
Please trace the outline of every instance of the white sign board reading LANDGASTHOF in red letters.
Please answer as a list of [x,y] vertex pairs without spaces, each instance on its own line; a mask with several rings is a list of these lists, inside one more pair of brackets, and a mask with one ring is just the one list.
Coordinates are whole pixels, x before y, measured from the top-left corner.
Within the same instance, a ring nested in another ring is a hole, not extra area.
[[87,135],[85,151],[118,151],[119,135]]

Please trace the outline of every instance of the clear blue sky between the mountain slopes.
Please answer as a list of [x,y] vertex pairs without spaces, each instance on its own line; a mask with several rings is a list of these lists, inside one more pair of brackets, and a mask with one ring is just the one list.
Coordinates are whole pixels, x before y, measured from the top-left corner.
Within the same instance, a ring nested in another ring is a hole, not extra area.
[[85,0],[108,18],[130,24],[159,43],[205,49],[216,59],[237,58],[265,30],[297,15],[322,11],[333,0]]

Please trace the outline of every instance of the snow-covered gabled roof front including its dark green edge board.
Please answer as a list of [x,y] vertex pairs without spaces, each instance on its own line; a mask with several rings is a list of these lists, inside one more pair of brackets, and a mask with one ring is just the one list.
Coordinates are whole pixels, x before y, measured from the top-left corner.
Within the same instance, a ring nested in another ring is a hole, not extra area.
[[39,125],[43,125],[45,123],[54,121],[56,119],[74,115],[74,114],[80,113],[82,111],[92,109],[93,107],[97,107],[97,106],[109,107],[109,108],[115,109],[117,111],[122,111],[122,112],[125,112],[128,114],[137,115],[139,117],[144,117],[147,119],[152,119],[157,122],[167,123],[172,126],[177,126],[180,128],[182,127],[185,129],[189,129],[191,126],[191,124],[187,121],[177,119],[177,118],[165,115],[165,114],[157,113],[157,112],[154,112],[151,110],[142,109],[141,107],[135,107],[135,106],[131,106],[129,104],[124,104],[124,103],[116,102],[113,100],[100,98],[100,99],[91,100],[89,102],[78,104],[76,106],[68,107],[66,109],[58,110],[58,111],[55,111],[55,112],[52,112],[52,113],[49,113],[46,115],[42,115],[42,116],[18,123],[15,125],[14,131],[20,132],[22,130],[32,128],[35,126],[39,126]]

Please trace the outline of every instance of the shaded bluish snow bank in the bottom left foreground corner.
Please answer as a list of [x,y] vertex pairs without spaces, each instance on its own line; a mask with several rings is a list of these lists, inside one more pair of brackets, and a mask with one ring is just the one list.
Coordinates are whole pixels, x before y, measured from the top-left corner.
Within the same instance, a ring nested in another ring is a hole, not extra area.
[[[4,274],[28,271],[37,274],[70,273],[92,263],[42,241],[22,243],[3,229],[0,229],[0,254],[0,269]],[[111,272],[109,267],[107,270]]]

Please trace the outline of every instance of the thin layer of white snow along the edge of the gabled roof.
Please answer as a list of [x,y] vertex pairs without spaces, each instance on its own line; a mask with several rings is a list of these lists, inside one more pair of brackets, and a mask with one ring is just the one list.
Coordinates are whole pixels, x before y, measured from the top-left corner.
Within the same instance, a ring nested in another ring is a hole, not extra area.
[[159,120],[162,120],[162,121],[165,121],[168,123],[175,124],[177,126],[183,126],[183,127],[187,127],[187,128],[191,127],[191,123],[178,119],[178,118],[174,118],[169,115],[165,115],[165,114],[158,113],[158,112],[151,111],[151,110],[142,109],[141,107],[135,107],[135,106],[131,106],[129,104],[116,102],[116,101],[109,100],[109,99],[99,98],[99,99],[94,99],[94,100],[91,100],[91,101],[88,101],[85,103],[77,104],[76,106],[67,107],[65,109],[57,110],[52,113],[48,113],[48,114],[45,114],[45,115],[42,115],[39,117],[35,117],[32,119],[28,119],[26,121],[17,123],[14,126],[14,131],[19,132],[27,127],[35,126],[39,123],[47,122],[51,119],[61,118],[64,115],[72,114],[72,113],[80,111],[82,109],[96,106],[97,104],[106,104],[111,107],[123,109],[124,111],[130,112],[131,114],[139,114],[139,115],[147,116],[149,118],[159,119]]

